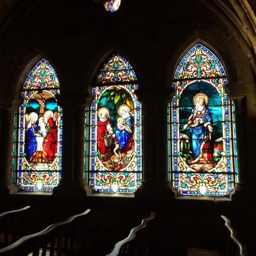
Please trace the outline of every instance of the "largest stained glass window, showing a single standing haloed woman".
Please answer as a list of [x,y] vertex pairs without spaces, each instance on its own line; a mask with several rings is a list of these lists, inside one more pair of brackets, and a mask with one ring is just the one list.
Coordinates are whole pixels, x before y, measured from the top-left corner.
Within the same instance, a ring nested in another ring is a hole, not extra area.
[[170,180],[178,194],[228,196],[237,181],[234,104],[220,60],[197,44],[180,61],[168,110]]

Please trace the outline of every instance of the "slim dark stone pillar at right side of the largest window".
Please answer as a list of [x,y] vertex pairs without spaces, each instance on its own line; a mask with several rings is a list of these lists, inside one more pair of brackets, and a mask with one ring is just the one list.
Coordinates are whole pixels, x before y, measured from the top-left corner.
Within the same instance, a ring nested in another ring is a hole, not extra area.
[[248,146],[246,136],[246,96],[230,97],[235,104],[236,146],[238,155],[238,182],[230,196],[232,200],[245,200],[250,190],[248,173]]

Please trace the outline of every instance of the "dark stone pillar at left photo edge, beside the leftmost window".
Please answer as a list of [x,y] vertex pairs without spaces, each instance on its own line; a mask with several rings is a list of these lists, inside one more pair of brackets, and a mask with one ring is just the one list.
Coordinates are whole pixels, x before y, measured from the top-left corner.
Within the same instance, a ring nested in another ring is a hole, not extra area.
[[13,100],[9,107],[0,106],[0,194],[2,195],[19,191],[19,187],[10,180],[13,113],[19,103]]

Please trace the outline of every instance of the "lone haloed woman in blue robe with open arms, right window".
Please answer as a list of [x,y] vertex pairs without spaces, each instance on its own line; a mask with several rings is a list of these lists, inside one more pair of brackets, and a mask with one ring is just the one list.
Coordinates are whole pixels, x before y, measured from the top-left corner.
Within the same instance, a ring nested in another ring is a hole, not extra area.
[[209,99],[206,94],[196,94],[193,98],[194,107],[191,110],[188,122],[183,126],[184,130],[188,126],[190,127],[192,137],[194,158],[192,158],[192,160],[188,160],[190,164],[213,162],[210,148],[213,122],[210,110],[207,106],[208,101]]

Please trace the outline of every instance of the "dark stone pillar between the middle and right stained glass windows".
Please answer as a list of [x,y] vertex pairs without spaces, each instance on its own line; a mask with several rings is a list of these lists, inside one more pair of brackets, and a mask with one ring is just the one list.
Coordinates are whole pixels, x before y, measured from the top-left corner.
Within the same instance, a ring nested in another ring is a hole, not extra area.
[[[143,180],[137,198],[174,198],[168,181],[167,104],[172,89],[145,88],[136,91],[142,104]],[[154,120],[154,121],[152,121]]]

